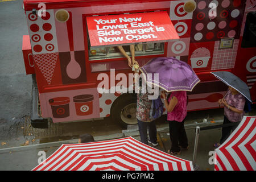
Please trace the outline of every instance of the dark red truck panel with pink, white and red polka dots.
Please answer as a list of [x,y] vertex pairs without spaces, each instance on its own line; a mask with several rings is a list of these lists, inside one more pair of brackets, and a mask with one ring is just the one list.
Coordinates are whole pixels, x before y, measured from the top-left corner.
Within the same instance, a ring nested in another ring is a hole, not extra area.
[[[199,0],[193,12],[191,43],[238,39],[245,3],[242,0]],[[214,9],[216,7],[216,9]]]

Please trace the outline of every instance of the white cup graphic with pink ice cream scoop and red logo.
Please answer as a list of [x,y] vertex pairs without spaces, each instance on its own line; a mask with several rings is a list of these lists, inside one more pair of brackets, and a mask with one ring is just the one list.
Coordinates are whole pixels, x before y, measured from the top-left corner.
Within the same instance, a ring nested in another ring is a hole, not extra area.
[[206,68],[210,59],[210,51],[205,47],[197,48],[191,55],[192,68]]

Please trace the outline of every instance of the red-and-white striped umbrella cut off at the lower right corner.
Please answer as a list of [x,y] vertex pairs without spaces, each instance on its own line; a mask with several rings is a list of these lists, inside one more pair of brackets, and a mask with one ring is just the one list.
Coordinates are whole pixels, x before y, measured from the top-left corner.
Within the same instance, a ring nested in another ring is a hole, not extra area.
[[240,125],[216,148],[215,170],[256,170],[256,117],[243,117]]

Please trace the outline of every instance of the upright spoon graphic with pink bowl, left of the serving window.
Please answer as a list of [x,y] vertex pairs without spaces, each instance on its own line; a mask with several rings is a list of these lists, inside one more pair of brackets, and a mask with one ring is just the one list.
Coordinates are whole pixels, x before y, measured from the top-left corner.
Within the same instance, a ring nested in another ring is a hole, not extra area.
[[69,48],[70,48],[70,56],[71,61],[68,63],[66,71],[67,75],[72,78],[76,79],[81,74],[81,67],[79,63],[75,60],[75,52],[74,52],[74,43],[73,43],[73,26],[72,26],[72,14],[69,13],[69,19],[67,21],[67,30],[68,30],[68,41],[69,41]]

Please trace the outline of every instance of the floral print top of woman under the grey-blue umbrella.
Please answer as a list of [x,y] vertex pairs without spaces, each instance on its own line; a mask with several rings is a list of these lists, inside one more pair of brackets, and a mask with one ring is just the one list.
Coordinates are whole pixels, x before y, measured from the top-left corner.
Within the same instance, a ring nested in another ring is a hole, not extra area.
[[[228,90],[225,100],[229,106],[236,107],[236,109],[238,109],[238,110],[243,110],[243,107],[245,106],[245,97],[243,97],[243,95],[241,93],[233,95],[230,92],[230,90]],[[236,112],[228,109],[228,107],[226,107],[226,106],[224,107],[224,115],[226,116],[226,118],[229,119],[230,122],[242,121],[244,114],[245,114],[244,111],[243,111],[243,113],[239,114],[239,113],[236,113]]]

